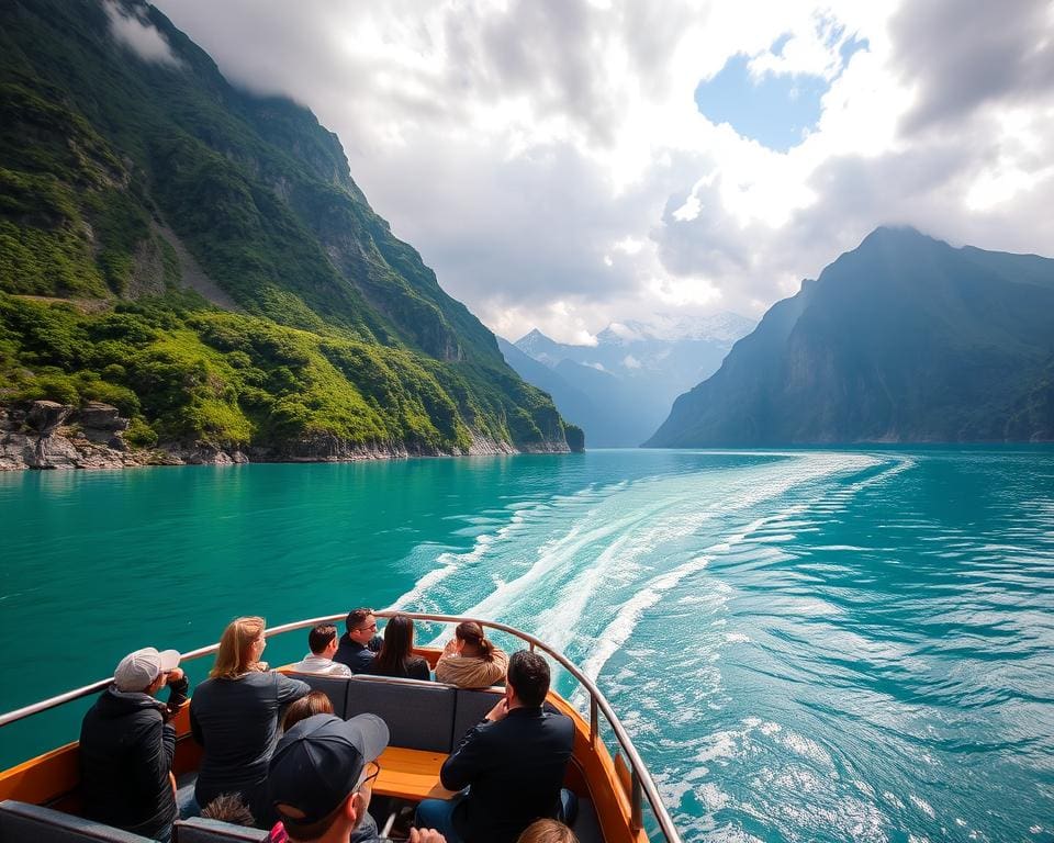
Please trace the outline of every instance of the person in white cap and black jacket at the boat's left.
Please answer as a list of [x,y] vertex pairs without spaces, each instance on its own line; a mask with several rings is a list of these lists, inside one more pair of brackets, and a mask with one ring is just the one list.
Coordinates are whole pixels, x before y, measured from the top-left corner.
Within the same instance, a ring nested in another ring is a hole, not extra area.
[[[154,698],[166,684],[167,706]],[[187,687],[175,650],[147,647],[121,660],[80,727],[85,817],[154,840],[171,838],[176,729],[168,721],[187,700]]]

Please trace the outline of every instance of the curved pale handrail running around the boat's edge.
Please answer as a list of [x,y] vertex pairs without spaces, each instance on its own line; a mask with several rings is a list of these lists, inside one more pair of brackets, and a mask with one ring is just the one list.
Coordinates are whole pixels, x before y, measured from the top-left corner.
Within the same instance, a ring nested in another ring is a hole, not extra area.
[[[633,746],[633,742],[630,740],[629,734],[627,734],[625,727],[623,727],[618,717],[615,715],[614,709],[612,709],[610,704],[607,701],[605,696],[601,693],[601,689],[596,687],[596,684],[586,676],[578,665],[571,662],[563,653],[553,650],[545,641],[529,632],[524,632],[523,630],[511,627],[507,623],[501,623],[495,620],[483,620],[481,618],[467,618],[455,615],[430,615],[426,612],[415,612],[415,611],[402,611],[399,610],[381,610],[378,609],[373,612],[379,618],[390,618],[393,615],[402,614],[407,615],[414,620],[430,621],[436,623],[460,623],[463,620],[472,620],[479,623],[482,627],[487,627],[490,629],[500,630],[506,632],[519,640],[526,642],[531,651],[540,650],[550,659],[556,661],[563,670],[565,670],[575,681],[581,685],[590,697],[590,744],[595,745],[598,734],[599,734],[599,715],[604,715],[604,719],[607,720],[608,726],[612,729],[612,733],[615,735],[615,739],[618,741],[620,752],[624,754],[629,766],[629,802],[630,802],[630,829],[633,833],[637,833],[643,828],[643,798],[647,797],[648,803],[651,807],[652,813],[654,814],[655,822],[659,825],[659,830],[662,832],[663,838],[668,843],[682,843],[681,835],[677,833],[676,828],[673,824],[673,820],[670,818],[670,813],[666,811],[665,806],[662,803],[662,798],[659,795],[659,789],[655,787],[655,783],[652,780],[651,775],[648,773],[648,768],[644,766],[643,761],[640,757],[640,754],[637,752],[637,748]],[[336,621],[344,620],[345,614],[340,615],[325,615],[318,618],[311,618],[310,620],[298,620],[292,623],[283,623],[278,627],[270,627],[266,630],[265,636],[267,638],[273,638],[274,636],[281,636],[285,632],[293,632],[299,629],[307,629],[310,627],[315,627],[318,623],[333,623]],[[220,649],[220,644],[210,644],[208,647],[201,647],[197,650],[191,650],[190,652],[183,653],[183,661],[190,661],[193,659],[201,659],[205,655],[211,655]],[[65,694],[59,694],[48,699],[41,700],[40,702],[34,702],[33,705],[25,706],[23,708],[15,709],[14,711],[9,711],[4,715],[0,715],[0,727],[8,726],[10,723],[18,722],[19,720],[24,720],[27,717],[37,715],[42,711],[47,711],[58,706],[70,702],[75,699],[81,699],[82,697],[90,696],[91,694],[98,694],[101,690],[104,690],[113,682],[113,677],[105,679],[100,679],[99,682],[93,682],[90,685],[85,685],[80,688],[75,688],[68,690]]]

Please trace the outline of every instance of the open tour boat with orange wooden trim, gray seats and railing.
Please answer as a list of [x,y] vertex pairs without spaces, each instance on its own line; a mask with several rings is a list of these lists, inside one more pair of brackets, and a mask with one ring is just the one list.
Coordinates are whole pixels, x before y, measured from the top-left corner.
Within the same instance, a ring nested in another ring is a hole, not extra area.
[[[394,611],[375,611],[390,618]],[[547,705],[570,717],[574,723],[574,750],[564,786],[579,796],[573,830],[581,843],[681,843],[681,838],[640,754],[610,704],[573,662],[540,639],[493,620],[451,615],[401,612],[415,621],[459,623],[473,620],[482,627],[518,639],[526,648],[541,652],[562,667],[584,693],[585,710],[580,711],[550,689]],[[343,621],[344,614],[298,620],[268,629],[274,638],[318,623]],[[183,654],[183,662],[215,653],[210,644]],[[441,651],[415,648],[434,668]],[[277,670],[291,673],[289,667]],[[357,675],[351,678],[318,674],[291,674],[329,695],[334,710],[344,717],[372,711],[389,724],[391,741],[379,758],[381,773],[374,796],[390,797],[389,803],[407,805],[426,797],[452,796],[439,784],[439,768],[456,749],[461,735],[479,722],[497,700],[502,688],[466,690],[437,682],[395,679]],[[0,715],[0,729],[33,718],[75,699],[105,689],[112,677],[76,688],[49,699]],[[189,701],[172,719],[176,727],[177,780],[193,776],[201,748],[190,733]],[[0,732],[2,734],[2,732]],[[609,745],[610,744],[610,745]],[[125,831],[85,820],[79,808],[77,743],[68,743],[0,773],[0,843],[36,840],[51,843],[146,841]],[[647,817],[646,817],[647,813]],[[383,825],[383,818],[378,825]],[[254,836],[257,835],[257,836]],[[180,820],[173,827],[173,843],[231,843],[266,841],[267,832],[201,819]]]

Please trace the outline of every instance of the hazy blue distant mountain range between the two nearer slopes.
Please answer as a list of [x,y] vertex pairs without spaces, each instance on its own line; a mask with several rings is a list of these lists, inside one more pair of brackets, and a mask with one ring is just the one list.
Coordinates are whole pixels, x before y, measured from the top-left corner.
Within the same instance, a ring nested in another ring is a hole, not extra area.
[[593,346],[557,342],[536,329],[515,345],[498,338],[498,347],[520,378],[585,429],[591,447],[625,448],[651,436],[673,400],[716,371],[753,327],[732,313],[659,316],[613,323]]

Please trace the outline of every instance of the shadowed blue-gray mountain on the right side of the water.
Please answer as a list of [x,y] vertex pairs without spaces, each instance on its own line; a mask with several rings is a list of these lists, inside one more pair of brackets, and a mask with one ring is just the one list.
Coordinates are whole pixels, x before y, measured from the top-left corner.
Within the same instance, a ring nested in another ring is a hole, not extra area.
[[776,303],[650,447],[1054,439],[1054,260],[878,228]]

